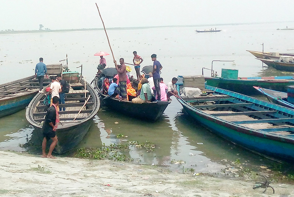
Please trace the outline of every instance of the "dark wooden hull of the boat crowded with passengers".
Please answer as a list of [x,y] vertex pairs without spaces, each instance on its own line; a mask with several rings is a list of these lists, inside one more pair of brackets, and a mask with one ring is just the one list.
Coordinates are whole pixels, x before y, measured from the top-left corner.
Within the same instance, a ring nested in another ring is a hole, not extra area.
[[167,101],[137,104],[132,103],[131,101],[114,99],[101,93],[98,81],[99,76],[96,76],[93,80],[95,86],[94,89],[100,94],[101,105],[106,105],[108,108],[127,116],[155,122],[162,116],[164,110],[169,104]]

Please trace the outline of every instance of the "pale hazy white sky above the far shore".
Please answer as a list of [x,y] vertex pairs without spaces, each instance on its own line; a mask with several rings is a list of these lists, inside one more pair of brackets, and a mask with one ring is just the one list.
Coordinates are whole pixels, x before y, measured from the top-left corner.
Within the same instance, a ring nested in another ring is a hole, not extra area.
[[285,0],[0,0],[0,30],[200,25],[293,21]]

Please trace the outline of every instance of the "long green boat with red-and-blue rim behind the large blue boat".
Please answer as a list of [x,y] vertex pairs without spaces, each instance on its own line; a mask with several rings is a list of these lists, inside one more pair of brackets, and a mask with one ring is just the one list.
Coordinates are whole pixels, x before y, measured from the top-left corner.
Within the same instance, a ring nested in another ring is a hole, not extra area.
[[285,77],[238,77],[225,79],[205,77],[207,85],[226,89],[244,95],[255,96],[260,93],[253,86],[264,87],[276,91],[287,92],[287,86],[294,85],[294,76]]

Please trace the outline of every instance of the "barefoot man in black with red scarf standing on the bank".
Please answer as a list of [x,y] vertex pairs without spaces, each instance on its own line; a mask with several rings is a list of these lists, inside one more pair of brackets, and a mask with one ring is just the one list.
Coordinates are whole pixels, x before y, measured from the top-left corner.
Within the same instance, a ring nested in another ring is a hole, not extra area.
[[[55,148],[57,144],[57,136],[55,134],[57,123],[56,120],[58,117],[56,117],[58,114],[56,113],[56,107],[58,106],[59,98],[57,96],[54,96],[52,99],[52,103],[55,105],[52,105],[47,109],[47,114],[45,116],[45,121],[43,123],[43,143],[42,143],[42,156],[41,157],[47,157],[51,159],[55,159],[56,157],[52,156],[52,151]],[[59,120],[59,118],[58,118]],[[50,138],[53,140],[53,142],[50,145],[49,153],[46,154],[46,143],[47,140],[50,140]]]

